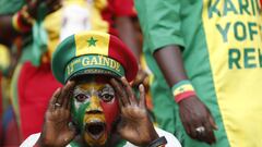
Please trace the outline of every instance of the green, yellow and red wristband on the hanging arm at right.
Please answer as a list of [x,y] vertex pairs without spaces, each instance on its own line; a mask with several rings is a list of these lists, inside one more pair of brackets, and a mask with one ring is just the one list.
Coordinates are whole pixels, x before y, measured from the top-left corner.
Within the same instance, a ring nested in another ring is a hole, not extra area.
[[195,96],[194,88],[190,81],[180,81],[171,87],[172,95],[175,97],[175,101],[178,103],[179,101],[187,99],[191,96]]

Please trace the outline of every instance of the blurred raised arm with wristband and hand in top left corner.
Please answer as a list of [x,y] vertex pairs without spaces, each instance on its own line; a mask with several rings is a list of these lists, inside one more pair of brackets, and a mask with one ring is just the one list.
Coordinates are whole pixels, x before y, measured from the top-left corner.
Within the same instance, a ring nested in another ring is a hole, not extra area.
[[[47,4],[47,13],[51,13],[61,7],[60,0],[44,1]],[[14,38],[31,32],[33,21],[37,17],[38,7],[43,0],[27,1],[16,13],[0,15],[0,42],[11,45]]]

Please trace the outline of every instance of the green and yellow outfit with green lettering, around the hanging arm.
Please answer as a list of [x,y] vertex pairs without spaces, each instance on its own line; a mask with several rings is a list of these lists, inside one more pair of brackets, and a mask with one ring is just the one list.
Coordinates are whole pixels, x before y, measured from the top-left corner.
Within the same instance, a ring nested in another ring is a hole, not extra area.
[[[219,127],[213,147],[261,146],[262,139],[253,138],[254,134],[262,138],[262,132],[258,133],[262,118],[257,117],[262,114],[259,0],[136,0],[135,7],[146,62],[154,73],[154,107],[169,105],[172,95],[153,53],[179,45],[187,75]],[[170,113],[168,107],[162,111]],[[186,135],[175,102],[172,107],[175,134],[182,146],[207,146]]]

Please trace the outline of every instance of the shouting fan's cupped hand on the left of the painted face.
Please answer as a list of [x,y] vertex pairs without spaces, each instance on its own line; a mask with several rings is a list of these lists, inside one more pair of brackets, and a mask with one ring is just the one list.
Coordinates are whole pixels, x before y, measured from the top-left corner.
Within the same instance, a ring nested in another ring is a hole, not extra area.
[[45,115],[45,124],[37,145],[40,147],[62,147],[75,136],[75,128],[70,122],[70,97],[74,82],[68,82],[55,91]]

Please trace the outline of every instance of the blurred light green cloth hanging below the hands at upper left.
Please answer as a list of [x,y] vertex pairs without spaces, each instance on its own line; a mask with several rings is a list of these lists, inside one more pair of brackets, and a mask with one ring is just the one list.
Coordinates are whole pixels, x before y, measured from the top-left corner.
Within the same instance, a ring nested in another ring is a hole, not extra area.
[[39,66],[41,63],[41,56],[47,51],[48,36],[44,28],[44,20],[47,14],[47,5],[41,3],[37,12],[38,16],[33,25],[33,56],[32,63]]

